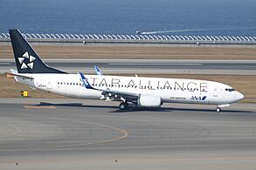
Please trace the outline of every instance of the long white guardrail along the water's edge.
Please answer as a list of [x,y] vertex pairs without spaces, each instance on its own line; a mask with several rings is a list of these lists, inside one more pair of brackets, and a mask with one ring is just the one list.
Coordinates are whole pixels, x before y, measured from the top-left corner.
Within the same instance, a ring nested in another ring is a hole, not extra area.
[[[193,43],[193,44],[256,44],[256,37],[248,36],[165,36],[165,35],[109,35],[109,34],[23,34],[29,41],[83,43]],[[10,41],[9,33],[0,33],[0,41]]]

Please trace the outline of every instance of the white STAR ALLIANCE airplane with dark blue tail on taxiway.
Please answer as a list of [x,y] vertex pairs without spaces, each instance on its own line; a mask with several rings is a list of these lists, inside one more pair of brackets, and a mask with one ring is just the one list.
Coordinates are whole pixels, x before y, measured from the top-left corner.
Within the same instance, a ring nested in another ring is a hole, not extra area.
[[45,92],[78,99],[119,101],[120,110],[130,105],[160,108],[163,103],[217,105],[216,111],[244,99],[244,95],[222,83],[183,78],[107,76],[98,66],[96,75],[59,71],[45,64],[17,29],[10,41],[17,71],[10,70],[18,83]]

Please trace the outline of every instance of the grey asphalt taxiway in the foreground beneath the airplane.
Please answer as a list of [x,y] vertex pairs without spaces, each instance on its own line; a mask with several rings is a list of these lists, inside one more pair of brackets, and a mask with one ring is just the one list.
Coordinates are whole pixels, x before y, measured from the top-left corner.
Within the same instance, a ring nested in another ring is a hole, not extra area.
[[255,169],[256,105],[0,99],[1,169]]

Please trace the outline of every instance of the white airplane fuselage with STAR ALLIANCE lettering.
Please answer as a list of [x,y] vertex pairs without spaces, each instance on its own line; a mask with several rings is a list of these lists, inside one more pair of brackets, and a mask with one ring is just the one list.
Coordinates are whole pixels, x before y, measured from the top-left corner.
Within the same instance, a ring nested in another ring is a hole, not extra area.
[[[80,98],[100,99],[101,91],[86,89],[79,74],[21,74],[17,82],[46,92]],[[162,102],[224,105],[243,99],[231,86],[213,81],[181,78],[143,78],[85,75],[90,85],[98,89],[112,89],[158,96]]]

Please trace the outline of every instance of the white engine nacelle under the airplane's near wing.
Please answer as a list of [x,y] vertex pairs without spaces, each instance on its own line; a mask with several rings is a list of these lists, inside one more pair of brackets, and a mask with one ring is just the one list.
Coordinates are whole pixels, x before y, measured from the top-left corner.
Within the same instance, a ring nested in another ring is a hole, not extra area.
[[162,104],[161,98],[149,94],[142,94],[137,101],[140,107],[160,107]]

